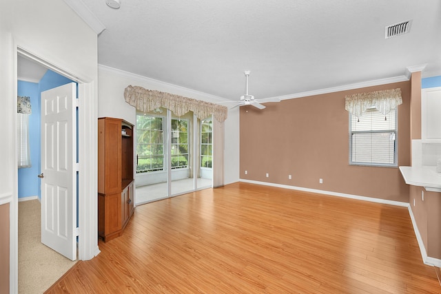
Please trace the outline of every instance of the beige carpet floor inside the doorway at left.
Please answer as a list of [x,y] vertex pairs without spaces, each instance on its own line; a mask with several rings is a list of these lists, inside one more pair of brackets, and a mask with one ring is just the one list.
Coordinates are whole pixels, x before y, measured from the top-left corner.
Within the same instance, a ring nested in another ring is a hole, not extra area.
[[19,202],[19,293],[43,293],[75,263],[41,243],[39,200]]

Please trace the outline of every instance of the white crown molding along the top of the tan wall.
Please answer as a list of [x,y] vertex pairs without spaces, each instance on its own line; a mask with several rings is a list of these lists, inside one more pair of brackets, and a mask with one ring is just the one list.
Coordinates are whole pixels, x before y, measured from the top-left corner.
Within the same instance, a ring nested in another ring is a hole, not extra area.
[[269,98],[279,98],[280,100],[287,100],[287,99],[294,99],[294,98],[301,98],[301,97],[307,97],[307,96],[314,96],[314,95],[320,95],[320,94],[328,94],[328,93],[334,93],[334,92],[340,92],[340,91],[346,91],[346,90],[353,90],[353,89],[359,89],[362,87],[372,87],[376,85],[386,85],[390,83],[399,83],[409,81],[409,78],[407,76],[394,76],[392,78],[382,78],[379,80],[374,81],[367,81],[362,83],[355,83],[350,85],[342,85],[338,87],[329,87],[325,89],[320,90],[313,90],[313,91],[307,91],[307,92],[300,92],[296,94],[288,94],[283,96],[276,96],[276,97],[269,97]]

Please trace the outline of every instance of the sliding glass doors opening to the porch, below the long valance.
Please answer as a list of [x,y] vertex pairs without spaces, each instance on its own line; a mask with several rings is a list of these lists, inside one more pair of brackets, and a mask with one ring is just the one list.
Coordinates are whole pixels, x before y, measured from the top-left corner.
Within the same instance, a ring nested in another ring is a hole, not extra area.
[[212,119],[136,114],[136,204],[212,187]]

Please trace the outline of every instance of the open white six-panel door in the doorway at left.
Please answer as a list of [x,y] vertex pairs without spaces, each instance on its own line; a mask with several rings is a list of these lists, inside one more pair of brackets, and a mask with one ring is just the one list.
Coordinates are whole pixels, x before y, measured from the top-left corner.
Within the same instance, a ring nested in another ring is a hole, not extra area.
[[76,84],[41,92],[41,242],[76,260]]

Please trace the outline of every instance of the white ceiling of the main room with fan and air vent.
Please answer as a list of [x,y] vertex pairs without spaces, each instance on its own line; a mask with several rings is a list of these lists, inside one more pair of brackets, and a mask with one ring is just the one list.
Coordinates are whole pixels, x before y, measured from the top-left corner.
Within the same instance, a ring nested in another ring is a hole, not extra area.
[[[256,98],[395,78],[425,63],[423,76],[441,74],[439,0],[82,2],[105,27],[99,64],[222,98],[244,94],[244,70]],[[407,20],[408,34],[384,38]]]

